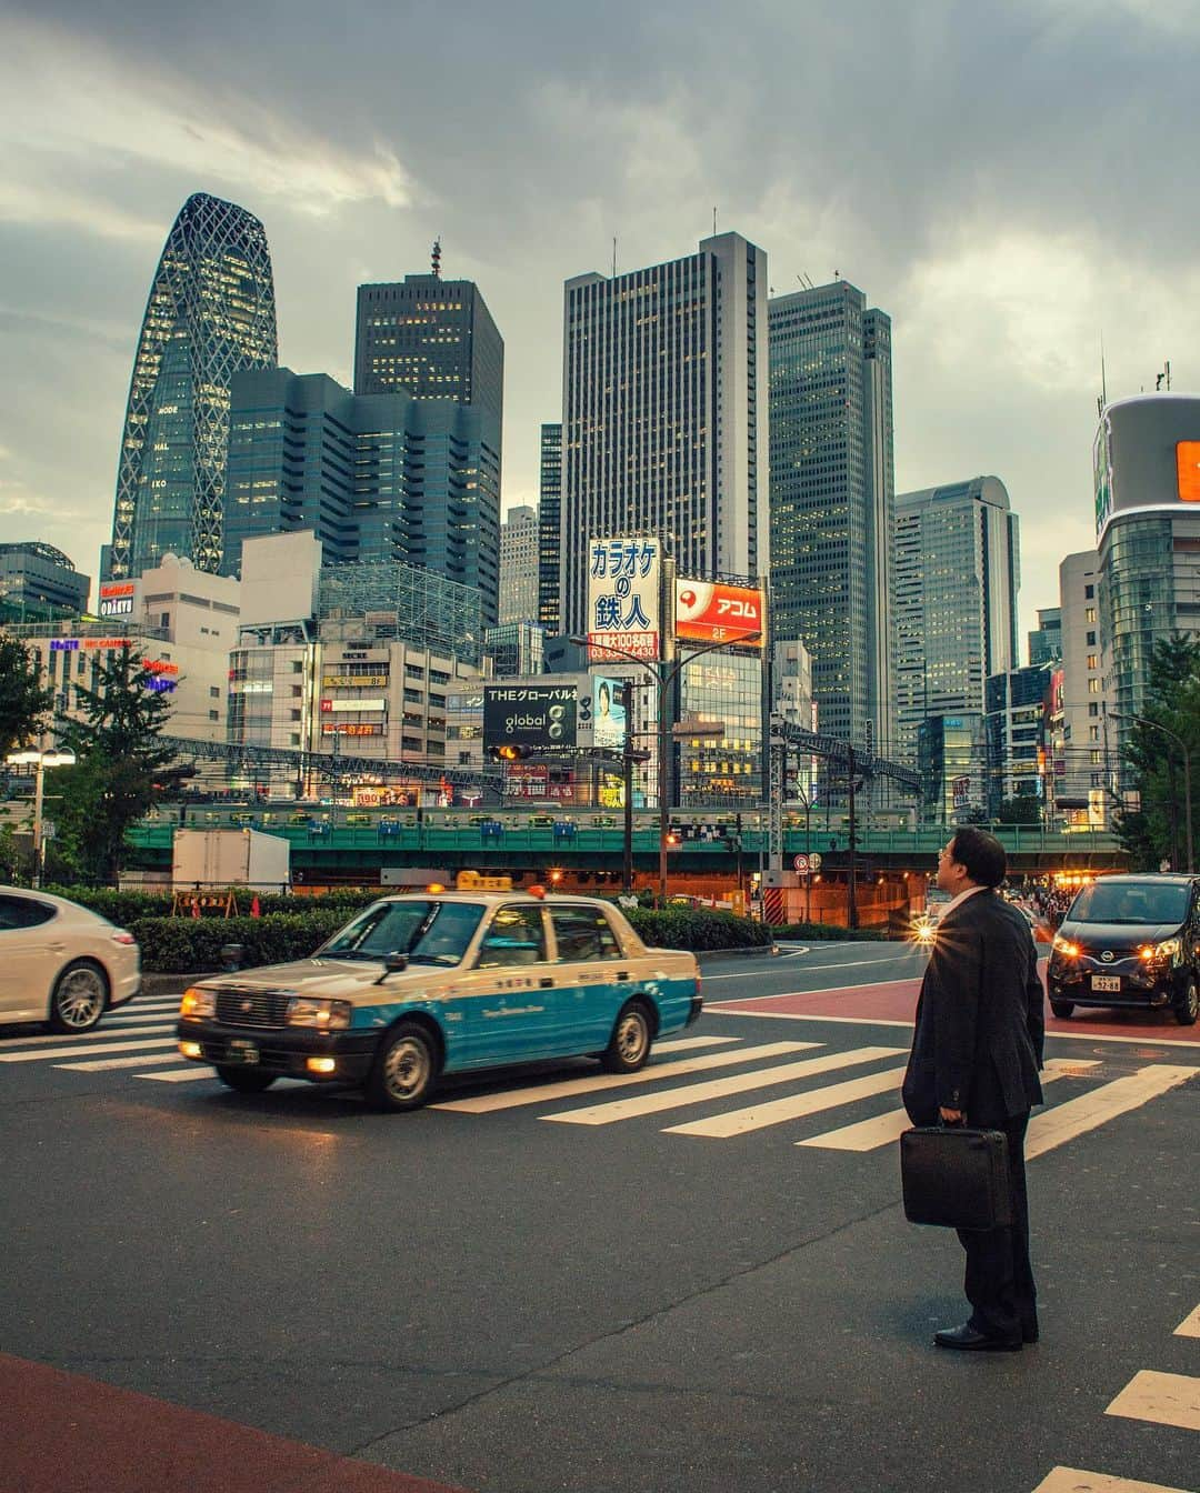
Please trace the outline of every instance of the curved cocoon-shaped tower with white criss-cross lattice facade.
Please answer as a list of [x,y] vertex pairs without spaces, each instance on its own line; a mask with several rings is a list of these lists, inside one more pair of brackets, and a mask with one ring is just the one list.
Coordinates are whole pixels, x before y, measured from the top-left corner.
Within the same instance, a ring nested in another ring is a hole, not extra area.
[[230,381],[278,361],[267,234],[245,208],[196,193],[167,236],[133,364],[106,579],[167,551],[221,566]]

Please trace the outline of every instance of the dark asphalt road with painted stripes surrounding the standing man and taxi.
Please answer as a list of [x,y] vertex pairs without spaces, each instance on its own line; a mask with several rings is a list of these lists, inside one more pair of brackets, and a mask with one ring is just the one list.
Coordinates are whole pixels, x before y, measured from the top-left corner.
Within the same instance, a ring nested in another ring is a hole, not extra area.
[[957,1241],[904,1223],[894,1144],[834,1136],[896,1109],[921,964],[709,961],[672,1073],[399,1117],[175,1081],[154,1000],[0,1033],[0,1486],[1200,1489],[1200,1029],[1055,1029],[1042,1342],[946,1354]]

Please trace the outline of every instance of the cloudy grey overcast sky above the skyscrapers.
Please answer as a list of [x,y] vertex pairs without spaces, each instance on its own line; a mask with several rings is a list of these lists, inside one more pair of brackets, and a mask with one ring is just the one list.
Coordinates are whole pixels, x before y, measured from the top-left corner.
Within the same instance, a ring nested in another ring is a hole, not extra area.
[[[352,379],[363,281],[479,284],[504,506],[536,500],[563,281],[718,225],[894,324],[897,491],[994,473],[1022,635],[1093,543],[1109,397],[1200,391],[1197,0],[0,0],[0,539],[90,575],[193,191],[267,228],[279,357]],[[1024,639],[1022,639],[1024,661]]]

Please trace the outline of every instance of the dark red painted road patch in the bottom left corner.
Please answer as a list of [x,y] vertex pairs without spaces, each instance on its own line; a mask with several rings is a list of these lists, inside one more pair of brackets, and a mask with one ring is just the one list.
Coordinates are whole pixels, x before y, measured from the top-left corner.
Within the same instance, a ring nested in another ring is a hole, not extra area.
[[21,1493],[463,1493],[4,1353],[0,1441]]

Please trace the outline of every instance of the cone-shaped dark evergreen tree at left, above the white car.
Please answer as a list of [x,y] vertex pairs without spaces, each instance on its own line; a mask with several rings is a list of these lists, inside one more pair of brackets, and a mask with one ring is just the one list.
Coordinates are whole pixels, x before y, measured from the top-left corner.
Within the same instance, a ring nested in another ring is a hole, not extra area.
[[76,875],[115,881],[125,832],[173,778],[175,754],[160,744],[170,715],[160,682],[125,645],[99,663],[96,688],[78,691],[82,720],[61,732],[78,763],[46,773],[46,794],[58,797],[55,860]]

